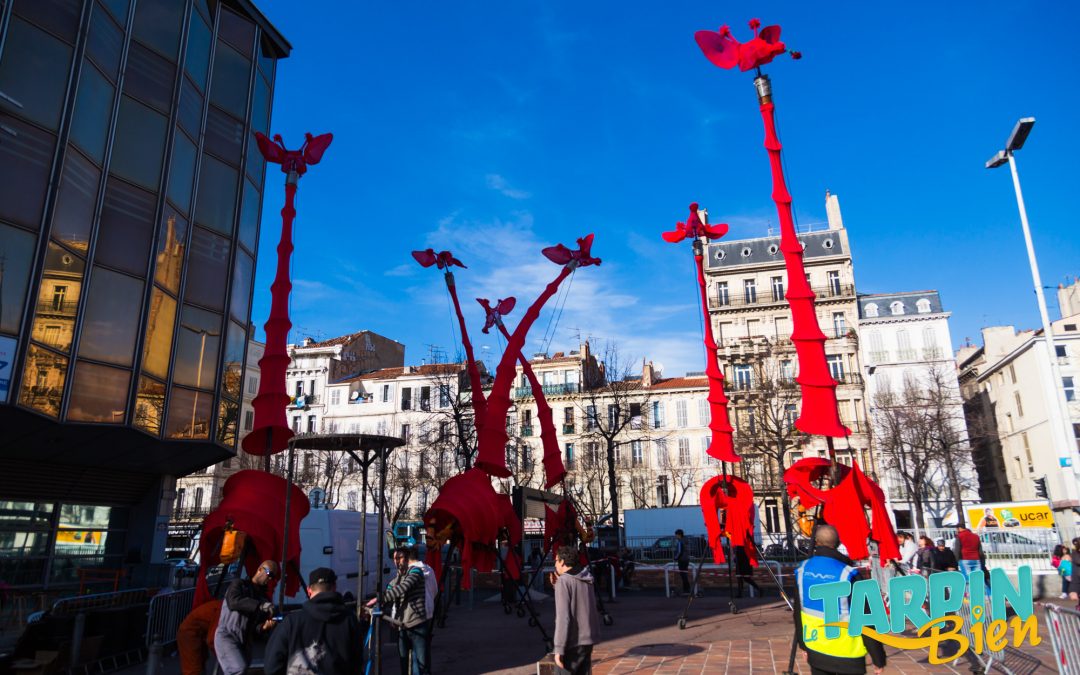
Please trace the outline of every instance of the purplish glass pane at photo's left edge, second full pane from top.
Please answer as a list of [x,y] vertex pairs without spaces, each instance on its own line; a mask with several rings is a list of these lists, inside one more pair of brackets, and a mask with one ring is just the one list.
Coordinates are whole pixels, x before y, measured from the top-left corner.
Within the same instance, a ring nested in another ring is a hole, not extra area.
[[[0,91],[4,91],[0,86]],[[37,230],[45,205],[45,188],[53,163],[56,137],[0,111],[0,124],[17,136],[3,133],[0,143],[0,218]]]

